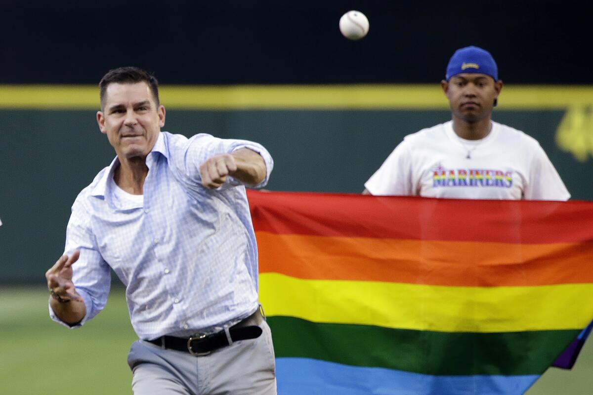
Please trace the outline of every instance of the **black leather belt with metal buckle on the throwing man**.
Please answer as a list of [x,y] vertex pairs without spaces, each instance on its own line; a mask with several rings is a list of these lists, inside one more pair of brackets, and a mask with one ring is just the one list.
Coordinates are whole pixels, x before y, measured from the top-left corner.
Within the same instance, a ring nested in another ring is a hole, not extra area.
[[229,327],[228,333],[231,337],[231,342],[228,341],[227,332],[225,330],[212,333],[211,335],[196,333],[189,339],[176,338],[175,336],[161,336],[160,338],[149,340],[148,342],[162,348],[189,352],[190,354],[199,357],[201,355],[208,355],[216,349],[226,347],[232,342],[259,338],[259,336],[262,335],[262,328],[259,327],[262,320],[262,313],[257,309],[255,313],[251,314],[246,319]]

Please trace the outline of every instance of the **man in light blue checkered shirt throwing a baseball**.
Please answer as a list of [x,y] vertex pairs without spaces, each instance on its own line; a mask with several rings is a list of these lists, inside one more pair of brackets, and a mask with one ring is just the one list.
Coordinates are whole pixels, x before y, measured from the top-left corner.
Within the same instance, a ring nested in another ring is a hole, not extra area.
[[245,192],[266,185],[272,158],[246,140],[161,132],[144,70],[99,85],[98,126],[117,156],[72,205],[64,255],[46,272],[50,316],[72,328],[96,316],[112,268],[139,338],[134,394],[276,394]]

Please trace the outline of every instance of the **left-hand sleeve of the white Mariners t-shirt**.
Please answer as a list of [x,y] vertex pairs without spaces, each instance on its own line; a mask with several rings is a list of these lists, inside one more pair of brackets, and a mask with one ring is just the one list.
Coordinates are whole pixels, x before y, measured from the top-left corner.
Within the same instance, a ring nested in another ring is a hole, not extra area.
[[365,182],[365,188],[372,195],[415,195],[412,155],[407,140],[398,144],[375,174]]

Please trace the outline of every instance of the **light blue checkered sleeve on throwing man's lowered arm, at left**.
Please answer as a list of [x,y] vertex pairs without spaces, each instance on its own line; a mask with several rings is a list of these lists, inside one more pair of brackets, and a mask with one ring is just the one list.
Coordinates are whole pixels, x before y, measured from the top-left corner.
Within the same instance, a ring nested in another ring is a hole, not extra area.
[[77,325],[71,326],[63,322],[49,307],[49,315],[55,322],[69,328],[81,327],[85,322],[96,316],[107,304],[111,287],[109,265],[98,251],[95,238],[89,226],[89,214],[78,200],[72,206],[72,214],[66,228],[66,247],[64,253],[72,255],[80,251],[78,261],[72,265],[72,282],[76,292],[84,299],[87,313]]

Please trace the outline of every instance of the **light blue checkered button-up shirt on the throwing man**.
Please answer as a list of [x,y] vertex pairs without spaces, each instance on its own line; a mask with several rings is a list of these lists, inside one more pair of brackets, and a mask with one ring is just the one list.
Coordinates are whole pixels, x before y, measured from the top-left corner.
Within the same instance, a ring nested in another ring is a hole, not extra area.
[[161,132],[146,157],[143,202],[115,190],[117,158],[80,192],[65,248],[68,255],[80,250],[72,280],[87,314],[75,327],[105,306],[110,267],[126,285],[130,319],[141,339],[212,332],[257,309],[257,245],[245,187],[228,178],[209,190],[199,171],[206,159],[243,147],[264,159],[266,179],[257,185],[263,187],[273,161],[260,144]]

